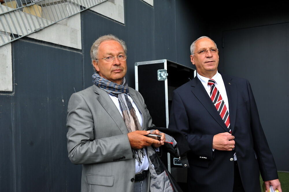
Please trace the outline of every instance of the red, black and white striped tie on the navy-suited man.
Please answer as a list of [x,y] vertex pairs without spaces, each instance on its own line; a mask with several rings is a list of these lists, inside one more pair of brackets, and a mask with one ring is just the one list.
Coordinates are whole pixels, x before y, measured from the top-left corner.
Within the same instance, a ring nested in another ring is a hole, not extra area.
[[231,132],[231,128],[230,128],[229,111],[227,110],[227,107],[225,105],[225,102],[224,102],[219,90],[215,86],[215,80],[214,79],[210,79],[208,81],[208,85],[211,86],[211,89],[210,89],[211,100],[212,100],[213,104],[215,105],[215,107],[216,107],[218,113],[220,114],[221,118],[225,122],[227,128],[229,129],[229,132],[232,133]]

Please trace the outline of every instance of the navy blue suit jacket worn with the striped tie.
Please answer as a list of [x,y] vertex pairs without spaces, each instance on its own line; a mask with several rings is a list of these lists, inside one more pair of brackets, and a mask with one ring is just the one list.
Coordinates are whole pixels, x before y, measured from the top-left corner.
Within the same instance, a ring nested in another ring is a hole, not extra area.
[[263,180],[277,179],[276,165],[260,124],[256,102],[248,80],[222,74],[229,102],[235,150],[212,151],[214,135],[228,129],[201,81],[195,77],[173,92],[169,128],[185,134],[188,155],[188,185],[193,191],[228,191],[234,184],[234,152],[245,191],[261,191]]

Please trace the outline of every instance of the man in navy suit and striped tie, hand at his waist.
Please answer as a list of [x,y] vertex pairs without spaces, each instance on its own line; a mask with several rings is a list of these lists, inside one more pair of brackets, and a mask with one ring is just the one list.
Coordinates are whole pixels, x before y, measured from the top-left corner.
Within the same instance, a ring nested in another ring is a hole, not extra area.
[[202,36],[191,47],[197,77],[173,92],[169,128],[185,134],[188,189],[204,192],[281,190],[248,80],[220,74],[213,40]]

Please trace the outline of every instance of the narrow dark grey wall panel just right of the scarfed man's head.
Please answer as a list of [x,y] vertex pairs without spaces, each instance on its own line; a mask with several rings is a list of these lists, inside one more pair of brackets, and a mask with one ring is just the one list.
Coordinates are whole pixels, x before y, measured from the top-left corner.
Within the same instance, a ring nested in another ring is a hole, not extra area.
[[125,2],[125,41],[129,58],[127,59],[128,85],[135,87],[134,63],[153,60],[154,8],[140,0]]

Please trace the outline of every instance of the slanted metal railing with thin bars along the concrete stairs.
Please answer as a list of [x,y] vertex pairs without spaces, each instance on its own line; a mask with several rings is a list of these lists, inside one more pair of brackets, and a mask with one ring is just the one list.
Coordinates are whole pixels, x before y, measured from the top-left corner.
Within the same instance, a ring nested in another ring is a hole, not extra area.
[[0,0],[0,46],[104,1],[114,3],[114,0]]

